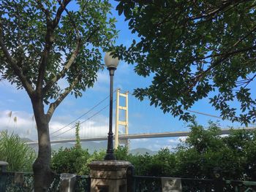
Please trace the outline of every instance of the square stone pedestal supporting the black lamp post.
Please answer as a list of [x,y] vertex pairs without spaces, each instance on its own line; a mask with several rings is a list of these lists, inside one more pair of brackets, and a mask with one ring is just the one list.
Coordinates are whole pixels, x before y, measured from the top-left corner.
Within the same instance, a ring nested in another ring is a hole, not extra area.
[[127,192],[128,161],[93,161],[91,169],[91,192]]

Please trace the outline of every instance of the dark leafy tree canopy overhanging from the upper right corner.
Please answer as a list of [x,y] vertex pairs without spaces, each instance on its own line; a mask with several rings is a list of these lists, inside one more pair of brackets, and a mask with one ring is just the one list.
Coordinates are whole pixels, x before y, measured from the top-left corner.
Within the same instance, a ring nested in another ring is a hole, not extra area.
[[140,38],[116,53],[153,77],[135,96],[183,120],[191,118],[184,110],[212,96],[223,119],[255,123],[255,1],[118,1],[119,15]]

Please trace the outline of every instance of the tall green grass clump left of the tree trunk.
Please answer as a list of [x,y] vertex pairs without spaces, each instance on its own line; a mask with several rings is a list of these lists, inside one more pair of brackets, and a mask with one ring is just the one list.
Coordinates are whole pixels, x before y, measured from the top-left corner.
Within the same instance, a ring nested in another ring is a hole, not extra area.
[[7,161],[7,171],[31,172],[36,158],[35,151],[17,134],[0,132],[0,161]]

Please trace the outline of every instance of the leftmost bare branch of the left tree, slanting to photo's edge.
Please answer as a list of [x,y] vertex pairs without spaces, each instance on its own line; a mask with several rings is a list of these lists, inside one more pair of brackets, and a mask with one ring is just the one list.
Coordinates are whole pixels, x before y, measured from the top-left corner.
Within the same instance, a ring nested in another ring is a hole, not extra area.
[[26,92],[29,94],[29,97],[31,98],[33,96],[33,93],[34,93],[34,88],[29,83],[29,81],[26,80],[26,76],[23,74],[23,72],[18,67],[18,64],[16,64],[16,61],[10,55],[9,51],[7,50],[7,47],[5,47],[4,40],[3,40],[3,34],[4,34],[3,26],[2,26],[2,22],[0,20],[0,45],[1,45],[1,50],[3,50],[4,56],[7,58],[7,62],[10,64],[10,66],[12,67],[13,72],[15,73],[15,75],[18,76],[18,78],[20,79],[20,82],[23,85],[23,88],[26,89]]

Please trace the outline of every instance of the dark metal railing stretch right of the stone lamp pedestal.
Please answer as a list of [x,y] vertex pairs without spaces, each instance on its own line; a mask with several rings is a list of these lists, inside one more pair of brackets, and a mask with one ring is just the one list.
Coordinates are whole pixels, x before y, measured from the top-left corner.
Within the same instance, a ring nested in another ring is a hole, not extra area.
[[135,192],[252,192],[256,182],[237,180],[199,180],[175,177],[134,176]]

